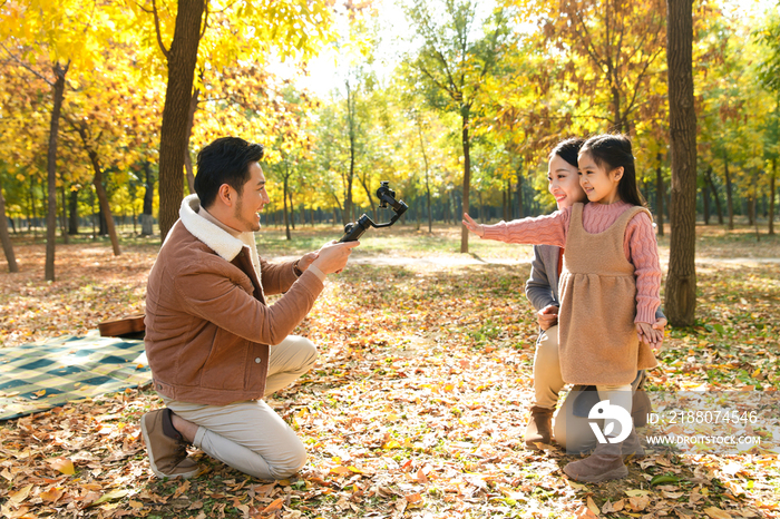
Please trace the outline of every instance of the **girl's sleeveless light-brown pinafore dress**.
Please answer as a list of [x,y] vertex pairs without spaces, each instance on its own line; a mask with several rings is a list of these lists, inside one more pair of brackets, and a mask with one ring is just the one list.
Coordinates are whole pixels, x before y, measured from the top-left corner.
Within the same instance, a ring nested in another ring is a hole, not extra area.
[[[558,292],[560,373],[571,384],[630,384],[637,370],[657,365],[650,346],[636,336],[636,281],[623,241],[626,209],[603,233],[583,227],[583,204],[572,209]],[[652,216],[651,216],[652,217]]]

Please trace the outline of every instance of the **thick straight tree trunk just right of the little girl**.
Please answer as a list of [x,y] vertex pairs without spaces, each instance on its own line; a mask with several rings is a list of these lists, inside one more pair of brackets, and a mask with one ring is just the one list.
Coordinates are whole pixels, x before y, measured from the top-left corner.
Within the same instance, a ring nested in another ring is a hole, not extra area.
[[664,310],[692,326],[696,310],[696,114],[693,105],[693,0],[666,1],[672,210]]

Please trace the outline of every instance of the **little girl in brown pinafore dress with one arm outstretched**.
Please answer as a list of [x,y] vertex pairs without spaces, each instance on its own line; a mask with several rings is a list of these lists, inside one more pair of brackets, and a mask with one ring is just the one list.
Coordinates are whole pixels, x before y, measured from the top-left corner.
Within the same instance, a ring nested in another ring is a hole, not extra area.
[[[464,225],[487,239],[565,247],[558,314],[562,378],[596,385],[602,401],[631,413],[631,383],[637,370],[657,364],[651,349],[663,339],[652,326],[661,303],[652,219],[636,188],[627,137],[601,135],[585,141],[578,175],[588,204],[490,226],[464,215]],[[630,432],[614,425],[607,424],[605,443],[564,472],[588,482],[627,476],[623,447],[638,440],[633,425]]]

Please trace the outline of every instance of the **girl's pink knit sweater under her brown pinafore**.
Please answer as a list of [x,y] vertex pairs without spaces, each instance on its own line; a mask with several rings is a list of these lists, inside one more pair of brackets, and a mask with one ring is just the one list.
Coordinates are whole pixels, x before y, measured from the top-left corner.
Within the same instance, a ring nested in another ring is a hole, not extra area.
[[[585,204],[583,227],[591,234],[602,233],[630,207],[631,205],[625,202],[615,202],[608,205]],[[482,237],[506,243],[565,247],[571,216],[572,208],[567,207],[536,218],[485,225]],[[655,310],[661,305],[661,265],[653,223],[645,213],[637,214],[628,222],[623,239],[623,249],[626,260],[635,268],[636,319],[634,322],[653,324],[655,323]]]

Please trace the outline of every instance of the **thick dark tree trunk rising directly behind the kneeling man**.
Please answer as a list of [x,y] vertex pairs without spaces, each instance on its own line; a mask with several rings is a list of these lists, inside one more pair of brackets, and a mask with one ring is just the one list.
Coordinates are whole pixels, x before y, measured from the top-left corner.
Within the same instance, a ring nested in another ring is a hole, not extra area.
[[184,194],[184,154],[193,80],[201,42],[205,0],[178,0],[176,27],[168,59],[168,78],[159,137],[159,234],[160,241],[178,219]]

